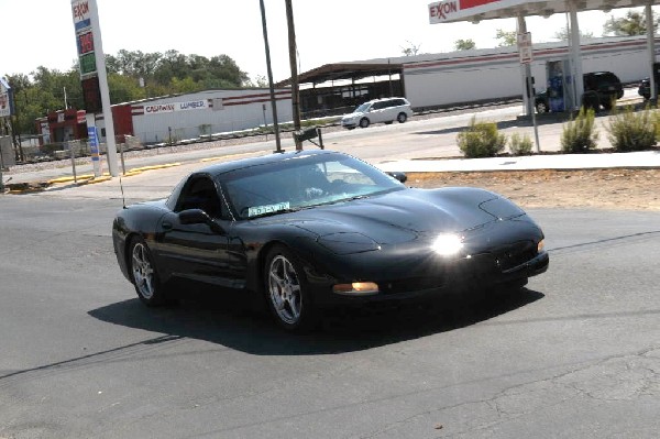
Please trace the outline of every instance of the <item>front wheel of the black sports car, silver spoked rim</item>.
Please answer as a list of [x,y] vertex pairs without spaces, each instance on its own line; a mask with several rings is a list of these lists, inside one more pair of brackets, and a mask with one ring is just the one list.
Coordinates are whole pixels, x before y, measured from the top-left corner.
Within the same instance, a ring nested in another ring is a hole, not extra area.
[[302,265],[284,245],[273,246],[264,264],[264,293],[277,325],[287,331],[304,332],[317,323],[316,311]]

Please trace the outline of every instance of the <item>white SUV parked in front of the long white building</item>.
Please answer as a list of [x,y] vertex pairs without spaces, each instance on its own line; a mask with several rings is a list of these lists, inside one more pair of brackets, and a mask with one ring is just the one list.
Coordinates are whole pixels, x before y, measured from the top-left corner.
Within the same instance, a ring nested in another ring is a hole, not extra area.
[[372,123],[392,123],[395,120],[404,123],[413,116],[410,102],[405,98],[374,99],[359,106],[352,113],[341,118],[341,125],[352,130],[355,127],[366,128]]

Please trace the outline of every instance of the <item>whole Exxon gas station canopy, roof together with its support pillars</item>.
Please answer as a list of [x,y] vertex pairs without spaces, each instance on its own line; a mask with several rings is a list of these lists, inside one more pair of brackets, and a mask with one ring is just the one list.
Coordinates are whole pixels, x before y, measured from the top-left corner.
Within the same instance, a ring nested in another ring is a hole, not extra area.
[[[479,23],[482,20],[493,19],[517,19],[518,35],[527,32],[525,18],[528,15],[550,17],[556,13],[569,13],[570,34],[569,45],[571,47],[571,74],[573,78],[573,108],[580,106],[580,99],[584,92],[582,79],[582,62],[580,53],[580,26],[578,12],[601,10],[609,12],[619,8],[646,7],[647,22],[647,46],[648,46],[648,70],[651,80],[651,99],[657,99],[656,78],[653,64],[656,62],[656,48],[653,39],[653,14],[651,6],[656,4],[648,0],[444,0],[432,2],[428,6],[429,22],[431,24],[469,21]],[[532,106],[528,99],[529,64],[521,66],[522,96],[528,112]]]

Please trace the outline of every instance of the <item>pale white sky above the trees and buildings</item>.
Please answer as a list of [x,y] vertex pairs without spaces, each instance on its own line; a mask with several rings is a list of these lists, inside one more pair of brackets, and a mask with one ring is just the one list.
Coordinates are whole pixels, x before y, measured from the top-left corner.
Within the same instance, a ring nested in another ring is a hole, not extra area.
[[[293,0],[299,73],[324,64],[397,57],[406,47],[418,53],[452,52],[457,40],[477,48],[497,46],[498,29],[515,31],[516,20],[479,24],[429,24],[430,0]],[[258,0],[97,0],[102,48],[143,53],[175,50],[184,55],[228,55],[255,79],[266,77]],[[290,76],[284,0],[264,0],[275,81]],[[580,30],[601,36],[603,24],[625,10],[579,14]],[[0,0],[0,75],[36,67],[67,72],[77,57],[70,0]],[[565,14],[530,17],[534,43],[557,41]]]

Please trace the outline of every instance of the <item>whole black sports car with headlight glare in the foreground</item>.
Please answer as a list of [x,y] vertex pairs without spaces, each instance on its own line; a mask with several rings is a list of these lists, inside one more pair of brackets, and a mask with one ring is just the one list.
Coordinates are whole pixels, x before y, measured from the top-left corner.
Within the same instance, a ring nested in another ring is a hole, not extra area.
[[548,268],[541,229],[508,199],[395,177],[331,151],[216,164],[119,211],[114,252],[146,305],[198,281],[262,295],[289,330],[331,305],[520,287]]

